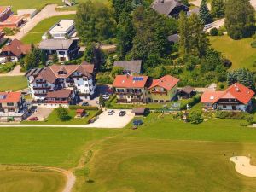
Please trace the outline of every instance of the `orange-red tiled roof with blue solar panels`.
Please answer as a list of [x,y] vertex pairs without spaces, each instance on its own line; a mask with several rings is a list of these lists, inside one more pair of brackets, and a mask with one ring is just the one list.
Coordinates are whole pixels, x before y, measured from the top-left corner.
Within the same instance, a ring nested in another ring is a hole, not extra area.
[[113,87],[119,88],[143,88],[148,76],[117,75],[113,81]]

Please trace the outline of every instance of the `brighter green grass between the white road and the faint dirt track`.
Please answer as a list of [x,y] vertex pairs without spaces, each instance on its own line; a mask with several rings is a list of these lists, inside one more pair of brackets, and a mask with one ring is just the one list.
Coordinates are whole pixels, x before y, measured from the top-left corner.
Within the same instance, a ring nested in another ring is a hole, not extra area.
[[114,130],[0,128],[0,164],[76,166],[85,144]]

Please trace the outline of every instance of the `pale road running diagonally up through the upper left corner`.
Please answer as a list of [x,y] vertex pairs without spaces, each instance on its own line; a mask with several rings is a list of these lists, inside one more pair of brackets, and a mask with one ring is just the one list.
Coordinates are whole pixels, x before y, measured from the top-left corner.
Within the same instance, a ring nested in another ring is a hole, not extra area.
[[47,19],[52,16],[57,15],[69,15],[69,14],[76,14],[76,11],[56,11],[55,8],[57,7],[56,4],[49,4],[42,9],[38,15],[35,15],[32,20],[29,20],[25,26],[20,28],[20,32],[17,32],[14,36],[9,36],[9,38],[23,38],[27,32],[32,30],[34,26],[36,26],[40,21]]

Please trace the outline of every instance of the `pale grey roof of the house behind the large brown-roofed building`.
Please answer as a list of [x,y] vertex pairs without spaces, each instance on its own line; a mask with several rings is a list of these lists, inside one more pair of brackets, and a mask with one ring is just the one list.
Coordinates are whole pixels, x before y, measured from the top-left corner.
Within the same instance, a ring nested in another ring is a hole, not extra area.
[[45,39],[40,42],[39,49],[68,49],[73,39]]

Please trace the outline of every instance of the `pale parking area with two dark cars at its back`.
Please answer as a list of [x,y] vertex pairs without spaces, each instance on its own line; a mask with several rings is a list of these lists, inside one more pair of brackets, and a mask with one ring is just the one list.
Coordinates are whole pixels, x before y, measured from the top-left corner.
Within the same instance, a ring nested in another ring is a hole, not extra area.
[[[112,115],[108,115],[108,111],[104,111],[100,114],[99,119],[94,123],[88,125],[89,127],[98,127],[98,128],[123,128],[125,125],[129,124],[130,121],[134,118],[134,113],[131,113],[131,110],[119,110],[115,109]],[[119,112],[125,111],[125,116],[120,117]]]

